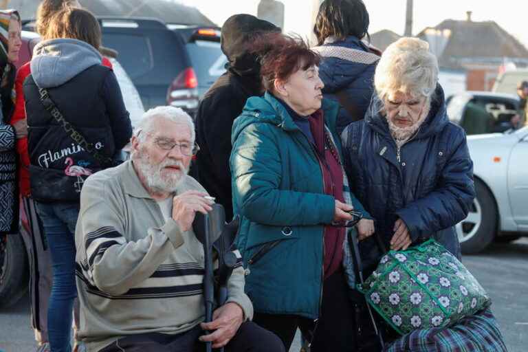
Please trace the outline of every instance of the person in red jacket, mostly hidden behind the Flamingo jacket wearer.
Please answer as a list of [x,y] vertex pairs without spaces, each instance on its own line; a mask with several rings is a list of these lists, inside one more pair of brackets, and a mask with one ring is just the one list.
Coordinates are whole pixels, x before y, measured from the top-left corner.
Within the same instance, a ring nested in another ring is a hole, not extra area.
[[[37,10],[36,30],[43,35],[47,28],[49,19],[55,12],[65,6],[78,7],[76,0],[44,0]],[[112,50],[101,48],[101,52],[107,56],[115,56],[117,53]],[[102,65],[112,68],[112,64],[107,57],[102,58]],[[25,99],[23,83],[25,78],[30,76],[30,62],[19,68],[17,78],[14,83],[16,92],[16,102],[10,124],[14,125],[19,121],[25,121]],[[27,129],[27,124],[25,125]],[[45,236],[41,228],[41,222],[36,214],[35,204],[31,197],[30,188],[30,156],[28,154],[28,137],[17,139],[17,153],[19,154],[19,190],[21,195],[20,217],[22,221],[21,235],[24,239],[25,248],[28,250],[30,261],[30,294],[32,306],[32,327],[35,339],[39,348],[37,351],[50,351],[47,337],[47,304],[52,289],[52,266],[50,252],[47,248]],[[78,303],[75,304],[75,322],[78,327]]]

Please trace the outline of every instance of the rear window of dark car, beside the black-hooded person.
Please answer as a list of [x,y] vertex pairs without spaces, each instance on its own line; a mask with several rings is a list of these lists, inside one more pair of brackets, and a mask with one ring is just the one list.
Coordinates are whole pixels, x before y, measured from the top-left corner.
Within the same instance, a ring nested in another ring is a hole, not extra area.
[[201,87],[210,86],[225,72],[228,59],[214,41],[194,41],[187,44],[187,51]]

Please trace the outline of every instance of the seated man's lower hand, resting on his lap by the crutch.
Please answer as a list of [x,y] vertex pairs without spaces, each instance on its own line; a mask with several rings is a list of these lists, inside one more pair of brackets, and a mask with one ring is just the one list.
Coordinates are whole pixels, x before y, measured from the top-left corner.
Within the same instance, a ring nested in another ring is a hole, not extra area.
[[242,308],[236,303],[228,303],[212,314],[212,322],[202,322],[201,328],[214,332],[209,335],[200,336],[201,342],[212,342],[213,349],[224,347],[236,331],[239,330],[240,325],[244,321],[244,312]]

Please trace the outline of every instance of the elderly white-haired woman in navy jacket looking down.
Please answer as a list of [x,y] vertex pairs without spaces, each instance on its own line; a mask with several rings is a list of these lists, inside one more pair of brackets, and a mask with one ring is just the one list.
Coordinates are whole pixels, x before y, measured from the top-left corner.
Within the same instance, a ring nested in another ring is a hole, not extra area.
[[[344,158],[353,192],[387,250],[434,238],[460,258],[454,225],[475,197],[473,164],[437,80],[428,43],[402,38],[390,45],[365,119],[342,133]],[[372,237],[360,243],[365,265],[377,263],[379,247]]]

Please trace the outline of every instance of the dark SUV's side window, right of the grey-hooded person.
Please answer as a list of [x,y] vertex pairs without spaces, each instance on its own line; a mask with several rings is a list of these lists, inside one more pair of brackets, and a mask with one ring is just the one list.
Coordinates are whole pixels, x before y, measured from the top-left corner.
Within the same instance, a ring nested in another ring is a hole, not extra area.
[[119,61],[131,79],[143,76],[153,68],[152,45],[146,36],[104,34],[103,45],[118,51]]

